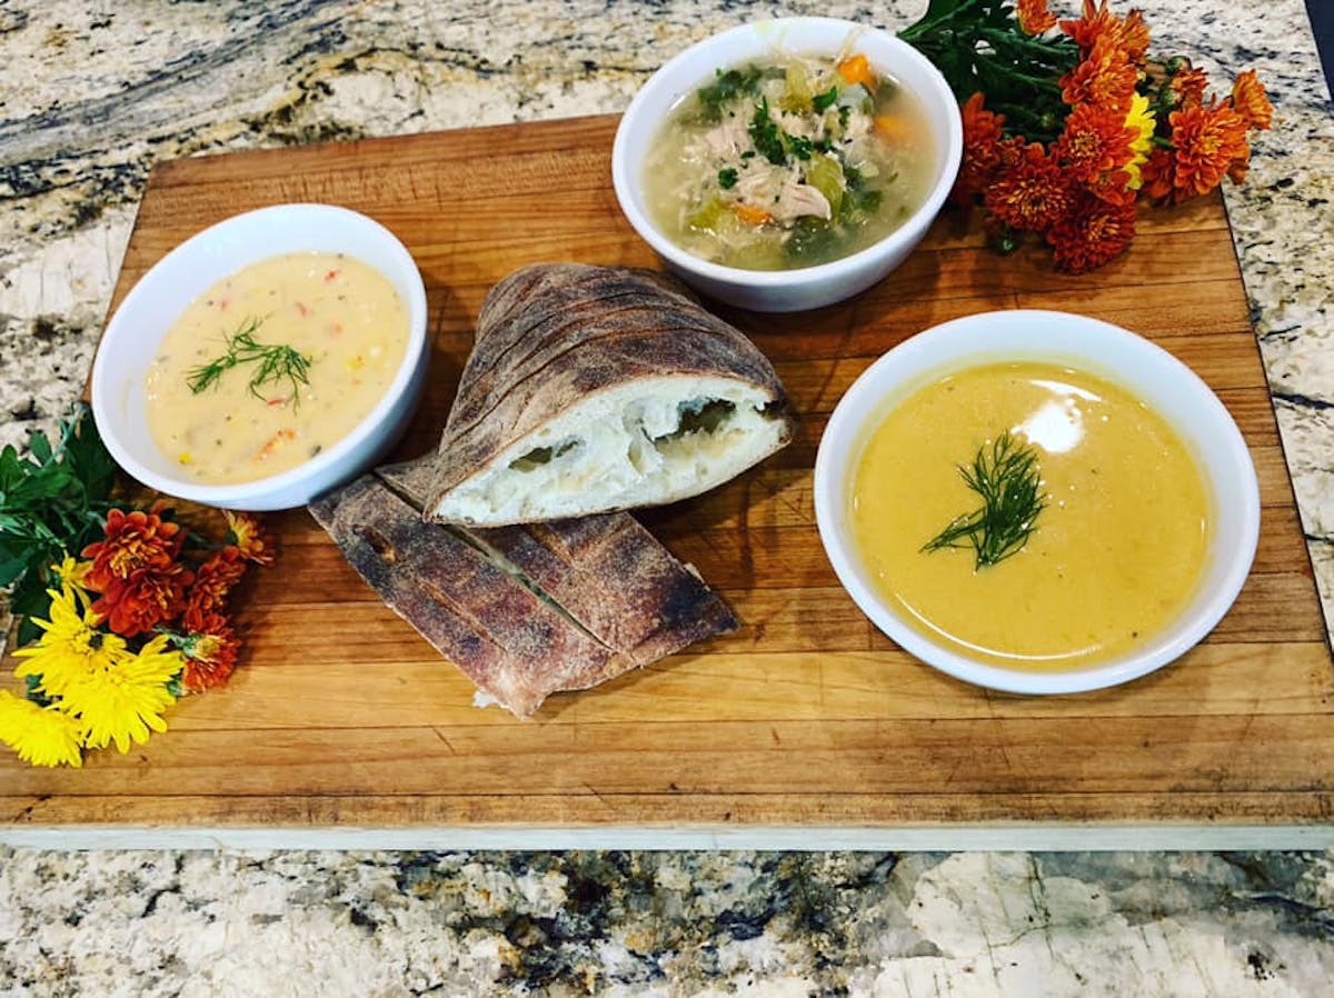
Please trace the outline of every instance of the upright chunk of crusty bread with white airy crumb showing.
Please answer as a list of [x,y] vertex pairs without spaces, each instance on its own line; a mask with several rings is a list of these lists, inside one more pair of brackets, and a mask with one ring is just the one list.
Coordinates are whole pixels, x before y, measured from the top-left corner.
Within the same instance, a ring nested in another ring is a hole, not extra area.
[[791,432],[764,355],[674,278],[534,264],[482,306],[424,514],[495,527],[671,503]]

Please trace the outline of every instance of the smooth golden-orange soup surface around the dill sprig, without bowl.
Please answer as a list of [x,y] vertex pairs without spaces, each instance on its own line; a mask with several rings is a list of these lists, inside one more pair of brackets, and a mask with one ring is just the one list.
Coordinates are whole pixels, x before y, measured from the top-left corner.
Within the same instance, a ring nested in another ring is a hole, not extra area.
[[[959,474],[1003,431],[1037,456],[1045,507],[1013,556],[923,550],[980,508]],[[851,520],[882,595],[931,636],[1007,667],[1113,658],[1163,628],[1205,566],[1210,499],[1162,416],[1089,374],[1037,363],[970,368],[868,430]]]

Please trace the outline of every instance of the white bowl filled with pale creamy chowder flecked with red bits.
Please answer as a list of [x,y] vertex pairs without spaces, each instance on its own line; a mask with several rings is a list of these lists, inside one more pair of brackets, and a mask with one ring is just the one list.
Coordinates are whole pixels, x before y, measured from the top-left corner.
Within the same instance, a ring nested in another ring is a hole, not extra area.
[[426,382],[426,291],[384,225],[328,204],[232,216],[131,288],[93,362],[116,463],[208,506],[301,506],[378,460]]

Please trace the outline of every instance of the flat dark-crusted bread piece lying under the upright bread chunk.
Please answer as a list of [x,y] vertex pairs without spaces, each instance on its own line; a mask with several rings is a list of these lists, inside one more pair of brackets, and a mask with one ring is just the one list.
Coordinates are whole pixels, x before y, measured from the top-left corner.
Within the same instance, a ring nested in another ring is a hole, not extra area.
[[499,530],[427,523],[430,458],[378,468],[311,512],[376,594],[520,718],[736,618],[624,512]]

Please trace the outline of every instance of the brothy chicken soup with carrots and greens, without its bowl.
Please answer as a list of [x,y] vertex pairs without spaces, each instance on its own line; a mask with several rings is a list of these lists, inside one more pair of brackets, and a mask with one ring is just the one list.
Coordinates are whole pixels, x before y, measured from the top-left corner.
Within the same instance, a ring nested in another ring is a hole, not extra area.
[[644,160],[654,220],[682,248],[756,271],[828,263],[896,229],[926,199],[920,101],[866,56],[774,53],[716,71]]

